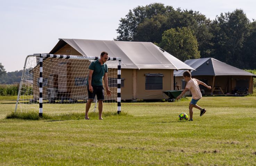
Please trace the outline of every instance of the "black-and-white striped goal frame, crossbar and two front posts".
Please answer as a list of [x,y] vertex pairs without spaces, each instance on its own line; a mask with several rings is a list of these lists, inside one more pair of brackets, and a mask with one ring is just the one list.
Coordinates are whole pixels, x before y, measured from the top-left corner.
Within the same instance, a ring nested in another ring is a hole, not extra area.
[[[40,57],[40,78],[39,78],[39,117],[43,117],[43,58],[60,59],[87,59],[97,60],[100,57],[76,56],[76,55],[56,55],[56,54],[34,54]],[[117,66],[117,114],[121,113],[121,58],[109,57],[108,60],[118,60]]]

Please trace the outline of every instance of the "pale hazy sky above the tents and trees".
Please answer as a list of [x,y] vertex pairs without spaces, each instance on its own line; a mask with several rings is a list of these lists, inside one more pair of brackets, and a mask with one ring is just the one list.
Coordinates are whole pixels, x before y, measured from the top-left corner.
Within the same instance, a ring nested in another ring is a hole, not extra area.
[[22,70],[27,55],[49,53],[58,39],[113,40],[129,10],[150,3],[216,15],[243,9],[256,19],[255,0],[0,0],[0,63]]

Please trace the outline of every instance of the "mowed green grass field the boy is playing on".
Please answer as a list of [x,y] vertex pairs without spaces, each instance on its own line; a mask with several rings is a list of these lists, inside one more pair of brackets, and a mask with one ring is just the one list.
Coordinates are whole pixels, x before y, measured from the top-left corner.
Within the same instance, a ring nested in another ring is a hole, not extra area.
[[[6,119],[0,100],[1,165],[256,165],[256,98],[203,97],[202,117],[178,121],[189,100],[122,103],[104,120]],[[81,114],[84,106],[81,107]],[[79,113],[77,113],[79,114]]]

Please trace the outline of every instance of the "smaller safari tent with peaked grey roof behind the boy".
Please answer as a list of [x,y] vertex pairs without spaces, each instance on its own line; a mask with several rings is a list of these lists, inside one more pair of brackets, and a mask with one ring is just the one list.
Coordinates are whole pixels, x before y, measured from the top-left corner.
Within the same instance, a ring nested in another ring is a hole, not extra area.
[[[212,90],[207,90],[200,85],[202,93],[205,94],[248,94],[253,93],[253,77],[256,75],[230,66],[214,58],[190,59],[184,62],[196,70],[191,71],[192,78],[212,86]],[[175,71],[175,82],[182,89],[185,88],[183,72],[185,70]]]

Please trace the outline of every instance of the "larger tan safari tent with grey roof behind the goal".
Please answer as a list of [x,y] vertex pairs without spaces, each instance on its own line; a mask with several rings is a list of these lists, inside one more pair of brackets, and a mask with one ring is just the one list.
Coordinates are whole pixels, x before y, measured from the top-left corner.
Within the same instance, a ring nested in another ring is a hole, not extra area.
[[[57,55],[77,56],[100,56],[102,51],[108,52],[109,57],[122,58],[121,62],[121,99],[163,99],[162,91],[174,89],[174,70],[189,69],[192,67],[170,55],[163,49],[151,42],[126,42],[126,41],[105,41],[105,40],[81,40],[81,39],[59,39],[59,42],[49,52]],[[91,61],[88,60],[88,63]],[[44,61],[44,66],[51,66],[50,60]],[[39,70],[39,68],[35,68]],[[81,69],[81,68],[80,68]],[[71,71],[72,66],[66,66],[62,72],[61,79],[58,79],[58,92],[68,92],[64,85],[74,85],[72,76],[65,77],[63,73]],[[49,79],[52,75],[54,81],[58,77],[56,70],[43,70],[43,80]],[[39,75],[34,75],[36,80]],[[64,78],[65,77],[65,78]],[[86,77],[86,76],[84,76]],[[62,80],[62,81],[61,81]],[[34,86],[37,86],[34,83]],[[62,89],[60,88],[62,87]],[[63,88],[64,87],[64,88]],[[44,89],[47,89],[47,84]],[[87,90],[84,86],[83,90]],[[44,90],[47,92],[47,90]],[[36,94],[36,96],[38,96]],[[43,94],[47,96],[47,94]]]

